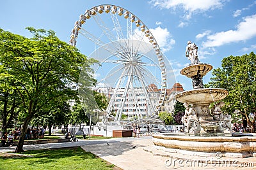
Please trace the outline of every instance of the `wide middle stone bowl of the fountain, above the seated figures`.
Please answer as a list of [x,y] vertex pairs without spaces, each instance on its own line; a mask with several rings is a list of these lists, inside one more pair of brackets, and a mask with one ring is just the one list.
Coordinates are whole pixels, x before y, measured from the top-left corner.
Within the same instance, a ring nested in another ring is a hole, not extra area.
[[175,99],[181,103],[210,104],[220,101],[228,95],[228,91],[220,88],[194,89],[176,94]]

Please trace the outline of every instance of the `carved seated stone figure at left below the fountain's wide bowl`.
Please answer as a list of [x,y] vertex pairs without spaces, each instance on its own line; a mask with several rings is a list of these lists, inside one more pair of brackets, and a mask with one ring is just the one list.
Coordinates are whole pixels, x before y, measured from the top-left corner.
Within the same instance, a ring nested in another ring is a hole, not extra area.
[[198,129],[198,117],[196,116],[195,108],[189,108],[188,103],[183,104],[186,108],[185,115],[182,117],[182,122],[185,125],[184,131],[187,133],[194,133]]

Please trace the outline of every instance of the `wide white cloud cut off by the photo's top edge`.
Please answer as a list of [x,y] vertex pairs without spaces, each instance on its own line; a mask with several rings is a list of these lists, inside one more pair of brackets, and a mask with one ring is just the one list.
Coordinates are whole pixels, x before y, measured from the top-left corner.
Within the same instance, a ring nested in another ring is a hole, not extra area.
[[157,6],[159,8],[172,8],[175,10],[176,8],[182,8],[183,10],[195,12],[195,11],[207,11],[213,10],[216,8],[221,8],[223,6],[223,2],[225,0],[152,0],[150,3],[153,6]]

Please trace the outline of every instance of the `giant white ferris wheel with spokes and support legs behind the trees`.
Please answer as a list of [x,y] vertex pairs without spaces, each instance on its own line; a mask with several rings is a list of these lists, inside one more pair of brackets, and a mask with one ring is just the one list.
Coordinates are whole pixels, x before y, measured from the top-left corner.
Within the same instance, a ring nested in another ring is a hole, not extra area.
[[94,77],[109,97],[106,115],[117,122],[122,115],[129,121],[157,117],[166,97],[168,61],[136,15],[111,4],[94,6],[80,15],[70,44],[99,60]]

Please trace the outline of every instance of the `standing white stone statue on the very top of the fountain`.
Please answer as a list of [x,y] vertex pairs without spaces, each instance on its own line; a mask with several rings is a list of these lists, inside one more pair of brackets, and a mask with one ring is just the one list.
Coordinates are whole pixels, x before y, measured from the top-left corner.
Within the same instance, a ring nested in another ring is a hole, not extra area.
[[186,47],[186,57],[191,60],[191,64],[198,64],[198,55],[197,55],[198,46],[195,43],[191,43],[188,41],[188,45]]

